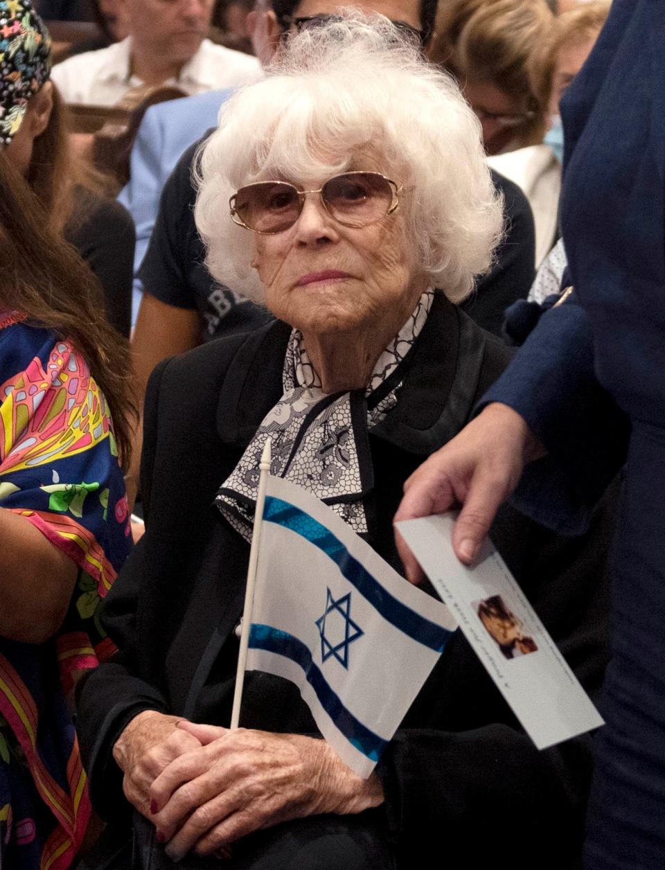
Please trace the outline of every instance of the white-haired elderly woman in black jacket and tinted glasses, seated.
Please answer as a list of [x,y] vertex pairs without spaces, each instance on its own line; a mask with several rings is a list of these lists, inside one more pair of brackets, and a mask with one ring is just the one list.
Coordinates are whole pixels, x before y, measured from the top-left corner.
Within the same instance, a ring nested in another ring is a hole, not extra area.
[[[226,104],[197,220],[216,278],[278,319],[151,380],[147,532],[106,608],[119,653],[79,699],[113,866],[147,866],[143,855],[158,867],[418,867],[435,848],[437,863],[503,867],[500,841],[537,848],[540,867],[572,866],[588,737],[536,752],[457,634],[367,780],[319,739],[283,679],[249,673],[244,727],[227,727],[265,439],[274,474],[324,499],[399,570],[402,483],[507,363],[453,305],[501,226],[473,112],[386,19],[306,30]],[[597,688],[597,535],[562,544],[508,511],[494,532]],[[87,866],[109,866],[100,852]]]

